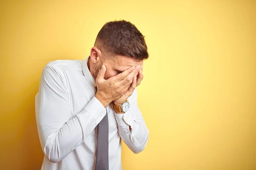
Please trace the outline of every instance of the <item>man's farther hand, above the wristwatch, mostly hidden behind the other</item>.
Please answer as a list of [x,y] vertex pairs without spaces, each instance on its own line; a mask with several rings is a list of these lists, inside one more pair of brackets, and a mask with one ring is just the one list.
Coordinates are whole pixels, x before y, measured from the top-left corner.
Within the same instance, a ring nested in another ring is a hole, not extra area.
[[133,81],[131,83],[130,88],[128,89],[128,91],[126,91],[125,94],[123,94],[122,96],[120,96],[118,99],[116,99],[115,101],[113,101],[114,105],[122,105],[127,99],[128,97],[130,97],[134,91],[134,89],[140,85],[142,79],[143,79],[143,65],[141,65],[141,68],[138,72],[138,74],[133,78]]

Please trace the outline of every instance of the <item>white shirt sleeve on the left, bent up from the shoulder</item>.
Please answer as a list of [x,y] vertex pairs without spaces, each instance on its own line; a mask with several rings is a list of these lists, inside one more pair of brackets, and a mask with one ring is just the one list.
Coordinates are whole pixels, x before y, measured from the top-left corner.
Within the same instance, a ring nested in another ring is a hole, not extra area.
[[64,77],[60,67],[47,65],[35,96],[41,147],[52,162],[61,161],[76,149],[106,114],[106,108],[94,96],[72,118]]

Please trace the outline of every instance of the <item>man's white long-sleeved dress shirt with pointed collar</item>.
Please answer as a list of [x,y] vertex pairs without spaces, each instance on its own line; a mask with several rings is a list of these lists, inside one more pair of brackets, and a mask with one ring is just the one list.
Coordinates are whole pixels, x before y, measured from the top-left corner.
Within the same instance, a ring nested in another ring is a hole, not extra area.
[[[41,170],[94,170],[97,131],[108,111],[109,170],[122,170],[121,138],[134,152],[148,142],[148,128],[137,105],[137,90],[128,98],[130,108],[117,114],[95,97],[96,81],[84,60],[55,60],[43,69],[35,113],[44,161]],[[131,126],[131,132],[129,130]]]

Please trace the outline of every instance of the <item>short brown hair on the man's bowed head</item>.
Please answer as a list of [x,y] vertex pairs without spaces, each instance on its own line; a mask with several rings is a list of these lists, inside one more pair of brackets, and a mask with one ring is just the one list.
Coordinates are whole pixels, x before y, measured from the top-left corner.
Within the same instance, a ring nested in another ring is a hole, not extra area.
[[115,20],[108,23],[99,31],[94,46],[100,48],[105,56],[128,56],[137,60],[148,59],[148,48],[145,36],[125,20]]

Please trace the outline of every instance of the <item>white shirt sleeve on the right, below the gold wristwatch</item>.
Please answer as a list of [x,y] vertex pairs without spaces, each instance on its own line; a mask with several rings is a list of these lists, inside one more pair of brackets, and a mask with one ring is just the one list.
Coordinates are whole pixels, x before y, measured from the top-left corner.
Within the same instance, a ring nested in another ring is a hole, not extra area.
[[[149,130],[145,125],[145,121],[137,105],[137,89],[128,98],[129,109],[127,112],[117,114],[116,122],[118,124],[118,132],[125,144],[134,153],[140,153],[148,142]],[[131,131],[129,130],[131,126]]]

